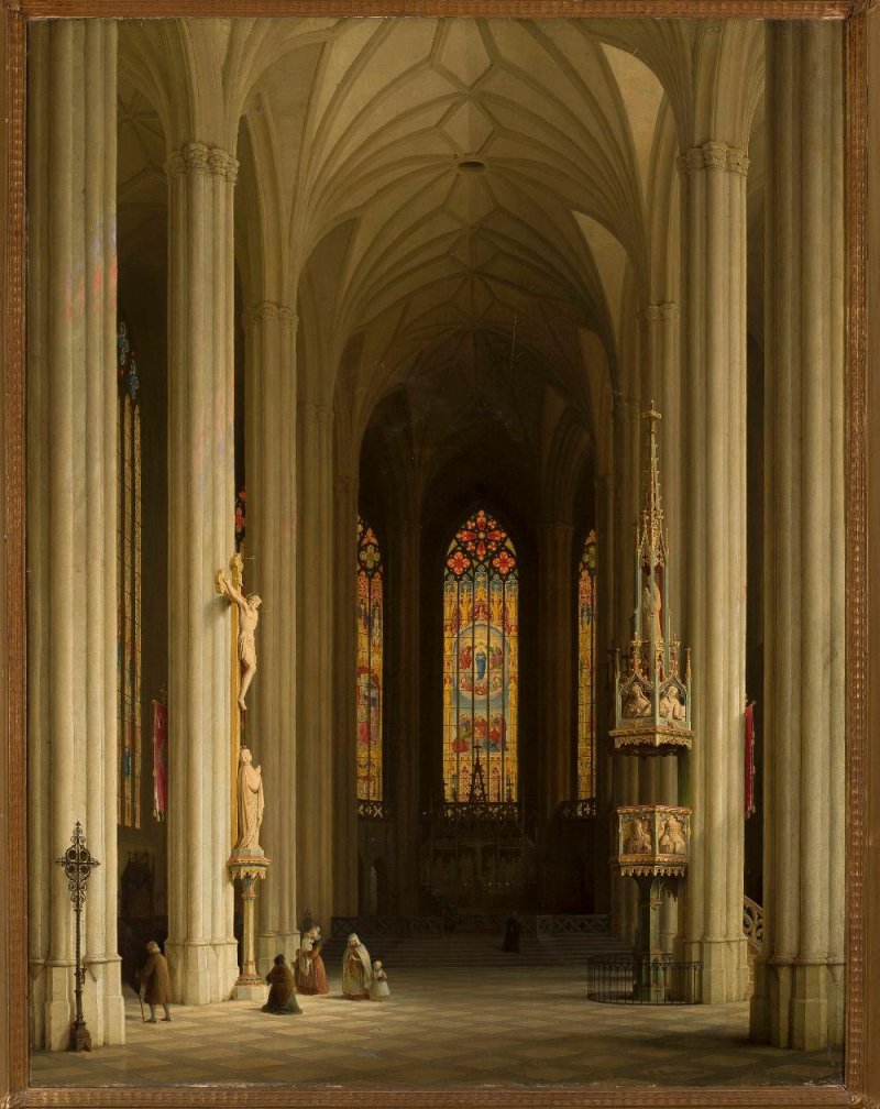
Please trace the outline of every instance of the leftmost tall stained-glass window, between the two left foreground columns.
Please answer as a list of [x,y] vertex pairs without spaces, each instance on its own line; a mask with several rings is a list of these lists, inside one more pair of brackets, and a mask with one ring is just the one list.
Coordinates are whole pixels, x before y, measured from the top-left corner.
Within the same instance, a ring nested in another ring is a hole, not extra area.
[[137,362],[125,323],[116,335],[119,378],[119,729],[116,818],[141,826],[141,410]]

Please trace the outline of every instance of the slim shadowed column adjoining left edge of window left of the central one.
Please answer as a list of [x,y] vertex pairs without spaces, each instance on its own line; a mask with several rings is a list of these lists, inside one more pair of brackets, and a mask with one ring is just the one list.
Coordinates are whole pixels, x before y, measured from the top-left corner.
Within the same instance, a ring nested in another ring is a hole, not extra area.
[[[332,852],[334,910],[340,916],[358,912],[358,782],[356,763],[357,713],[357,478],[339,475],[334,482],[336,607],[334,619],[334,775]],[[385,550],[383,550],[385,553]],[[387,676],[387,673],[386,673]],[[387,725],[385,728],[387,733]],[[387,735],[383,736],[383,740]],[[329,925],[329,922],[328,922]]]

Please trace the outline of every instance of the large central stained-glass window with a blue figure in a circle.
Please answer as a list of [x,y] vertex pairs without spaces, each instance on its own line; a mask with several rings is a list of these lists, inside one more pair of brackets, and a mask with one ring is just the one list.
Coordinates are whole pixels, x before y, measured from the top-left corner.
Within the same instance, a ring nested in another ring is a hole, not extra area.
[[443,578],[443,788],[451,802],[516,801],[516,552],[480,509],[449,545]]

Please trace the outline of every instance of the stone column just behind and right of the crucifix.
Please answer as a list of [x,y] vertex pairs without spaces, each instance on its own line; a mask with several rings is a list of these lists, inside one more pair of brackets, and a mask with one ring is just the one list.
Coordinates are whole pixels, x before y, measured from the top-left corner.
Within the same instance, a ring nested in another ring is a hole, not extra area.
[[294,312],[264,301],[244,316],[246,577],[263,598],[259,669],[248,695],[245,739],[263,766],[260,832],[272,859],[260,884],[258,970],[299,946],[296,899],[296,324]]

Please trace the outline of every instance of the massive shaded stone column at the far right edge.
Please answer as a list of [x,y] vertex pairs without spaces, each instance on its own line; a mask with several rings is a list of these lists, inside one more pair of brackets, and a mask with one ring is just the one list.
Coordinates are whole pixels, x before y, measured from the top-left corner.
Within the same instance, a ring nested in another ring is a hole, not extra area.
[[767,30],[764,964],[751,1034],[843,1040],[843,62]]

